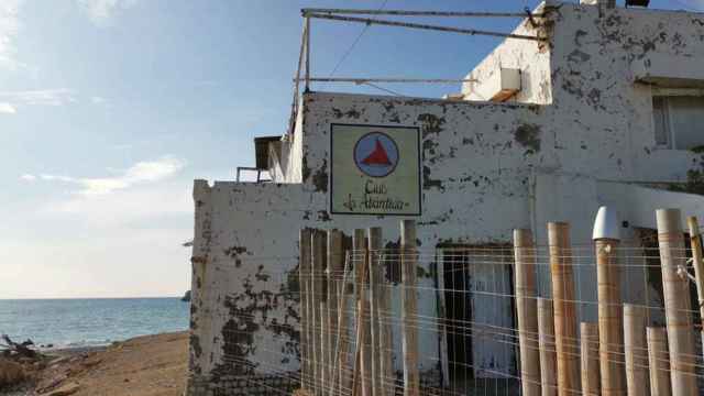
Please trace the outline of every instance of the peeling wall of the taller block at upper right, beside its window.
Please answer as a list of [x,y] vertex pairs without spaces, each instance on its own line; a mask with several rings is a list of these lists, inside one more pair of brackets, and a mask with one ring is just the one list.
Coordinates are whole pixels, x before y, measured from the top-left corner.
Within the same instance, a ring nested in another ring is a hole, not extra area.
[[559,131],[560,167],[606,179],[683,179],[695,155],[656,147],[651,87],[635,80],[631,64],[650,53],[697,62],[704,14],[562,4],[552,45],[544,122]]

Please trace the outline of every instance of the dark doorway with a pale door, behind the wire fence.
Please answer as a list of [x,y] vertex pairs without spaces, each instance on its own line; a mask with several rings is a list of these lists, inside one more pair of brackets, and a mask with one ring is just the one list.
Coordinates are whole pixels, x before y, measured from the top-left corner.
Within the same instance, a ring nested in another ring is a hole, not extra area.
[[438,248],[447,385],[463,395],[517,394],[513,245]]

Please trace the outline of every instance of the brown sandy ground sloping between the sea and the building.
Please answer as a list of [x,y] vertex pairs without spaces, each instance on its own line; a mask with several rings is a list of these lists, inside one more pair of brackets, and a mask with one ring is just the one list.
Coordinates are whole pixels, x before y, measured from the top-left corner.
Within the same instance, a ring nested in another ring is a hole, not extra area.
[[107,348],[52,351],[55,358],[32,386],[4,395],[183,395],[187,340],[186,332],[163,333]]

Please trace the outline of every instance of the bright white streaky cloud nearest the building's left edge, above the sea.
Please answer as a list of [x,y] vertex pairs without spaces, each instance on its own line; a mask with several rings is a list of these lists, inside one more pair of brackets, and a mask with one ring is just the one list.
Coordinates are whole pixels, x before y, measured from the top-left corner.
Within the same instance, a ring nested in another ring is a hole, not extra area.
[[72,177],[62,175],[43,174],[42,180],[69,183],[78,186],[76,191],[84,196],[108,195],[134,185],[156,183],[176,175],[184,168],[183,160],[164,156],[155,161],[139,162],[122,174],[107,177]]

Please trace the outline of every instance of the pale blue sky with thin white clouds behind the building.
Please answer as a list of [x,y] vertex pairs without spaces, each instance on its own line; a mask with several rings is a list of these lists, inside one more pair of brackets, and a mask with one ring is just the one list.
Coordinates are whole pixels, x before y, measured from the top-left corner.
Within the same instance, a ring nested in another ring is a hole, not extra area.
[[[254,162],[253,136],[284,131],[299,9],[384,3],[520,11],[537,1],[0,0],[0,298],[189,288],[190,251],[180,244],[193,234],[193,179],[232,179]],[[653,7],[704,10],[704,0]],[[329,76],[363,29],[314,21],[314,75]],[[496,44],[372,26],[336,76],[461,78]]]

